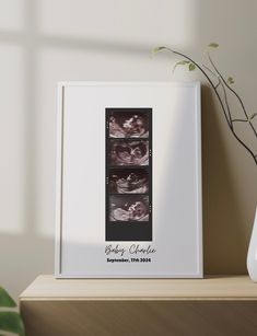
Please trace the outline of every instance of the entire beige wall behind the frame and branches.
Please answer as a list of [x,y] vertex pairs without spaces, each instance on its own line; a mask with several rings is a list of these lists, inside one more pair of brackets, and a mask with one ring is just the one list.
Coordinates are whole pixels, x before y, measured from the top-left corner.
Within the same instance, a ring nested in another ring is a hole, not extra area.
[[150,50],[168,45],[201,61],[206,45],[218,42],[220,70],[256,112],[256,22],[255,0],[0,0],[2,286],[16,297],[54,271],[60,80],[202,80],[205,271],[246,273],[257,167],[200,74],[172,76],[177,59]]

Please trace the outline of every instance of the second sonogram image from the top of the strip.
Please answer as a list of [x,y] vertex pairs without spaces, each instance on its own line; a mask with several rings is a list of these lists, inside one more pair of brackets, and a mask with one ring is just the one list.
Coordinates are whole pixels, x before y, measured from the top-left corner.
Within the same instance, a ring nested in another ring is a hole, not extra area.
[[110,140],[110,165],[148,165],[148,140]]

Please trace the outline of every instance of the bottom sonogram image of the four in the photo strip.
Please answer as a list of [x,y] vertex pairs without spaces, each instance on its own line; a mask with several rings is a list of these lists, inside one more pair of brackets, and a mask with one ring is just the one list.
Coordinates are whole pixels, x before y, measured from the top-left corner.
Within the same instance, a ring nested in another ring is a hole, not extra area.
[[112,195],[109,221],[149,221],[149,196]]

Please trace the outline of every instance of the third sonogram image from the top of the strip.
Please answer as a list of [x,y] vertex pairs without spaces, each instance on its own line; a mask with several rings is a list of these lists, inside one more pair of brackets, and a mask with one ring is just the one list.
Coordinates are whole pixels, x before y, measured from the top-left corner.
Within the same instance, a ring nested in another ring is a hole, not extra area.
[[108,184],[112,194],[147,194],[149,173],[145,169],[110,169]]

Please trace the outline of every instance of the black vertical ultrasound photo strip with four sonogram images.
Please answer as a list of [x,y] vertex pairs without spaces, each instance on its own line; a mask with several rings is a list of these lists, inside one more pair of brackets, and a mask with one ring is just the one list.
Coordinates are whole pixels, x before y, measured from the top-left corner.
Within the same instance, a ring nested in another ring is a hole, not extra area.
[[151,108],[106,108],[106,241],[152,241],[151,149]]

